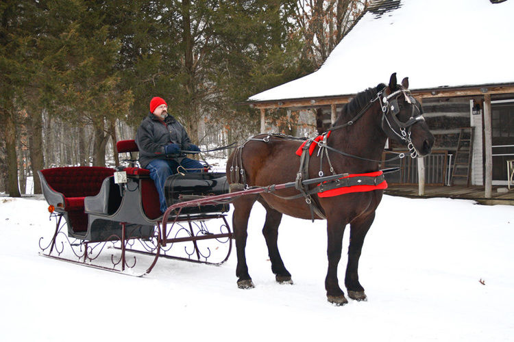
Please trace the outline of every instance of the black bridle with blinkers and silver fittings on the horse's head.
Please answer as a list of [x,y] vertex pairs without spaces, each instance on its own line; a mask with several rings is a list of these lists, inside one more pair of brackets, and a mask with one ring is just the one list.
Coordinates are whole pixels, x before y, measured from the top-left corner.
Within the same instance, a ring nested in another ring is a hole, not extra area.
[[[406,142],[407,148],[409,153],[411,153],[411,157],[415,158],[417,157],[416,149],[414,148],[413,142],[411,140],[411,127],[413,124],[415,124],[418,121],[424,121],[425,118],[423,117],[423,114],[421,114],[421,111],[419,110],[419,107],[417,106],[416,99],[412,96],[411,91],[401,88],[400,90],[396,90],[395,92],[392,92],[389,95],[384,95],[385,88],[378,92],[377,97],[371,100],[371,102],[375,102],[377,99],[380,101],[380,108],[382,109],[382,130],[385,131],[384,122],[387,122],[387,125],[389,126],[389,129],[395,133],[398,137],[400,137],[401,140]],[[406,122],[402,122],[398,120],[397,115],[400,113],[400,106],[398,105],[398,98],[400,96],[404,96],[405,101],[407,103],[411,103],[412,105],[412,112],[411,117],[408,118]],[[393,98],[391,100],[391,98]],[[390,114],[389,116],[387,114]],[[397,127],[400,129],[400,132],[396,131],[393,128],[393,125],[391,125],[390,118],[393,120],[393,122],[397,125]]]

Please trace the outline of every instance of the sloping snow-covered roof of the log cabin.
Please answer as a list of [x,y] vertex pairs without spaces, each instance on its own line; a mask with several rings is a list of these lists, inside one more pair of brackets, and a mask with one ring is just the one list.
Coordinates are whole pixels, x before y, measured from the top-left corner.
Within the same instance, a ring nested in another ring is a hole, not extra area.
[[366,12],[315,73],[248,101],[356,94],[394,72],[412,90],[514,83],[514,0],[391,3]]

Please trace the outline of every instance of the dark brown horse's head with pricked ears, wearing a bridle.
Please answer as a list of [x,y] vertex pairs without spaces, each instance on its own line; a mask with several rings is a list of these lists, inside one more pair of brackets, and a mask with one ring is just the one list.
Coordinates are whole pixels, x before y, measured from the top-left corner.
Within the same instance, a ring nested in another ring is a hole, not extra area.
[[378,94],[382,107],[382,130],[386,135],[407,146],[411,156],[430,153],[434,135],[428,130],[421,103],[408,90],[408,77],[397,84],[396,73],[391,75],[389,86],[382,85]]

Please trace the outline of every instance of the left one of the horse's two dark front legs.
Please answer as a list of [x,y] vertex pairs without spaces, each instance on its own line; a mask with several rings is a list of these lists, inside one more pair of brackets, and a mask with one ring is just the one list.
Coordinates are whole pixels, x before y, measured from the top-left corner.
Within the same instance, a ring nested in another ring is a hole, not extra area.
[[346,222],[328,218],[328,272],[325,278],[325,289],[327,290],[327,300],[336,305],[344,305],[348,301],[345,293],[339,287],[337,280],[337,266],[341,260],[341,250],[343,249],[343,233],[345,231]]

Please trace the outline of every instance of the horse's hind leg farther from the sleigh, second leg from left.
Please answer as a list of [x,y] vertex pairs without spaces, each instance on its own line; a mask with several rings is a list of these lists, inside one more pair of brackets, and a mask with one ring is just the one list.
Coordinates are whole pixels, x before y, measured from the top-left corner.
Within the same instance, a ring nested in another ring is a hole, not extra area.
[[266,221],[264,228],[262,228],[262,235],[264,235],[268,246],[271,271],[275,274],[277,282],[280,282],[281,284],[293,284],[291,274],[284,266],[284,262],[282,261],[282,257],[280,257],[280,252],[278,251],[278,226],[282,220],[282,213],[271,208],[264,200],[259,200],[259,202],[266,209]]

